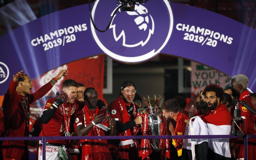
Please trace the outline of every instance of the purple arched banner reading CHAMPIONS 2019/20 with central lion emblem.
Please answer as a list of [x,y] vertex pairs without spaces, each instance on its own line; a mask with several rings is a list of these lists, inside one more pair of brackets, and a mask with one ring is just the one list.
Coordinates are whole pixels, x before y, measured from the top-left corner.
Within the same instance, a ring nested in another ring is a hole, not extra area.
[[256,90],[256,31],[200,8],[148,1],[133,12],[116,12],[116,1],[88,4],[38,18],[0,39],[0,95],[12,75],[24,70],[31,79],[71,61],[106,53],[125,63],[147,61],[158,53],[190,59],[230,76],[245,74]]

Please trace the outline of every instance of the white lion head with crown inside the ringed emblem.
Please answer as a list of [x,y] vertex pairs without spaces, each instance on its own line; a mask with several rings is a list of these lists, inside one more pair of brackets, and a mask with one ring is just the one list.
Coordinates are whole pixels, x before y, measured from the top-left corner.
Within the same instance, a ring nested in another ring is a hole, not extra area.
[[[155,24],[152,16],[148,14],[148,9],[141,4],[135,5],[134,11],[128,11],[125,14],[129,15],[125,20],[115,15],[109,27],[113,29],[113,36],[116,42],[123,40],[123,46],[125,47],[137,47],[139,45],[143,47],[147,44],[151,35],[154,34]],[[127,28],[125,28],[120,21],[130,25],[126,25]],[[128,31],[131,26],[133,32]],[[140,38],[135,39],[136,35],[140,35]]]

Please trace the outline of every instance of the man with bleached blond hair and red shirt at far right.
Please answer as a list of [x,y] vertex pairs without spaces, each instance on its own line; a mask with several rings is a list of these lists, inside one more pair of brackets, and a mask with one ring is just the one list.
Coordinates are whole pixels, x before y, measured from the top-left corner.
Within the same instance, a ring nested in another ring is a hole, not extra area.
[[[233,97],[239,97],[240,101],[244,101],[247,103],[247,105],[250,105],[252,108],[255,109],[255,106],[252,102],[252,99],[250,97],[250,93],[247,90],[249,80],[246,75],[238,74],[233,77],[231,80],[231,91]],[[245,134],[251,134],[255,135],[255,115],[249,111],[245,106],[243,106],[239,102],[239,110],[241,110],[241,117],[244,121],[244,130]],[[241,125],[240,125],[241,128]],[[254,142],[254,144],[252,144]],[[248,142],[248,159],[255,159],[256,153],[255,153],[255,140],[249,139]],[[232,147],[232,156],[235,159],[243,159],[244,156],[244,143],[243,140],[236,140],[233,147]]]

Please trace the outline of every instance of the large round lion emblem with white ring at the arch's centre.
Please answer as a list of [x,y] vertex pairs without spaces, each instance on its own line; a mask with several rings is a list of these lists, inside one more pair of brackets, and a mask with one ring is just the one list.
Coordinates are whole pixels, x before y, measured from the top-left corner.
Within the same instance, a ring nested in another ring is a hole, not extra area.
[[167,0],[136,4],[134,11],[114,14],[116,1],[96,1],[92,18],[97,28],[106,32],[91,32],[99,47],[110,57],[121,62],[137,63],[156,56],[165,47],[172,33],[173,15]]

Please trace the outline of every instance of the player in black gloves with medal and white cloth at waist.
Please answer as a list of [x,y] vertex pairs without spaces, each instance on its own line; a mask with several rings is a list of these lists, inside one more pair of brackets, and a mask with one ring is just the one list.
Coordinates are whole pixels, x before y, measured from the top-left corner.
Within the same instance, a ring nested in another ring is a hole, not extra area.
[[[41,116],[43,126],[40,136],[72,136],[70,130],[72,115],[82,109],[85,102],[75,100],[78,83],[67,79],[62,82],[62,92],[56,93],[56,98],[48,99],[45,110]],[[69,140],[48,140],[46,143],[46,159],[71,159],[69,154]],[[39,144],[38,159],[43,157],[42,144]]]

